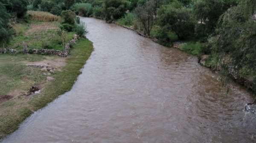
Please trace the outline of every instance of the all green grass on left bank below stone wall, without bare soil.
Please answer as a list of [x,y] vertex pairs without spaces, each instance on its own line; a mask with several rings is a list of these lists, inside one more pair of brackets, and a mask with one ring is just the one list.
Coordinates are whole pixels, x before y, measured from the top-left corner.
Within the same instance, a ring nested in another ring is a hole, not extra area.
[[[47,83],[45,82],[45,77],[41,77],[42,73],[40,68],[27,67],[18,63],[15,64],[18,59],[26,59],[26,61],[40,61],[45,59],[45,56],[0,55],[0,74],[6,76],[6,78],[8,77],[7,79],[11,81],[8,82],[9,86],[3,87],[3,91],[1,89],[0,92],[7,93],[10,90],[14,90],[15,86],[22,84],[20,79],[23,77],[30,77],[32,81],[40,83],[43,82],[46,85],[40,94],[34,95],[32,98],[25,99],[23,96],[18,96],[9,101],[0,103],[0,138],[6,137],[6,135],[9,135],[18,129],[20,123],[31,115],[33,111],[41,109],[59,95],[69,91],[81,73],[80,69],[84,66],[92,51],[92,42],[88,39],[79,39],[79,41],[73,45],[70,56],[67,57],[66,65],[62,68],[62,71],[56,71],[55,74],[52,75],[55,80]],[[11,63],[2,62],[4,59],[6,59],[6,61],[8,61],[8,59],[12,60],[10,60]],[[13,84],[12,82],[16,84]],[[4,84],[6,83],[2,83],[2,81],[0,81],[0,84],[5,86]],[[23,84],[28,84],[27,87],[32,86],[32,83],[30,82]],[[13,87],[11,88],[10,86]]]

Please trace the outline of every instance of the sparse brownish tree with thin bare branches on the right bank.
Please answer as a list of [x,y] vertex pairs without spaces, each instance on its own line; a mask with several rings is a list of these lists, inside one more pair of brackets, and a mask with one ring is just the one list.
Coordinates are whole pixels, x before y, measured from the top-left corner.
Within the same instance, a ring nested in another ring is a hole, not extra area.
[[145,34],[150,36],[150,31],[154,25],[154,6],[155,2],[150,0],[145,3],[145,6],[135,8],[135,14],[138,20],[142,23]]

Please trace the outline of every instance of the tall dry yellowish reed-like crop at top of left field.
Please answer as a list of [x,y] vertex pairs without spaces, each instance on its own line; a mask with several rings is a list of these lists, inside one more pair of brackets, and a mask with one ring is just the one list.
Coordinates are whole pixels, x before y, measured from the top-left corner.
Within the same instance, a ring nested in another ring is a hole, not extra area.
[[29,19],[35,21],[45,21],[45,22],[52,22],[52,21],[61,21],[61,17],[53,15],[49,12],[44,11],[27,11],[29,15]]

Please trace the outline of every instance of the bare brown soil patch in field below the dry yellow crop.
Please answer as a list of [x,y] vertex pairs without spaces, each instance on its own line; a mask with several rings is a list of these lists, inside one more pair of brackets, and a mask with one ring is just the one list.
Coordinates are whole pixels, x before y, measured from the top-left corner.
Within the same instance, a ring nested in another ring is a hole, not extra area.
[[26,32],[26,35],[42,32],[42,31],[46,32],[48,30],[54,30],[54,29],[58,29],[58,27],[51,23],[32,24],[30,25],[29,30]]

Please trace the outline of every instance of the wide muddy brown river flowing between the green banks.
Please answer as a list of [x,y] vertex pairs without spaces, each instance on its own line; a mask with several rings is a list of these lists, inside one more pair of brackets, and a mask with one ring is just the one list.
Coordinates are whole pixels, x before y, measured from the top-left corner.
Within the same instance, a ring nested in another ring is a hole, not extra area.
[[2,143],[256,143],[250,93],[198,59],[93,18],[94,52],[73,89]]

